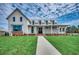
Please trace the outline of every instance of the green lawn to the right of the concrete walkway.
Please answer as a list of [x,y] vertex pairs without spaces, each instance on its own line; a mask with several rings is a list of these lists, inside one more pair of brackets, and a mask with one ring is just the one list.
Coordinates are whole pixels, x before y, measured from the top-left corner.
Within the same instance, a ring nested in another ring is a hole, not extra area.
[[63,55],[79,54],[79,36],[46,36]]

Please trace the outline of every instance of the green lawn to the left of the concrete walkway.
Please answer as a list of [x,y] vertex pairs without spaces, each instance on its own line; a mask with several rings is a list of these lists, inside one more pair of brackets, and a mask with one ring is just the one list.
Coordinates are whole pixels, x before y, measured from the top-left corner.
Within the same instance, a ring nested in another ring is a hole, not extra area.
[[36,54],[37,37],[35,36],[0,36],[1,55]]

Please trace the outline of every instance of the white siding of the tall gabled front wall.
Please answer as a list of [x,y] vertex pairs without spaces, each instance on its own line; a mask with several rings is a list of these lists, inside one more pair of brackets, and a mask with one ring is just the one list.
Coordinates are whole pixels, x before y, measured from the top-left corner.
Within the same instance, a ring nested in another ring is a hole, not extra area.
[[[13,22],[13,17],[15,17],[15,22]],[[20,22],[20,17],[22,17],[22,22]],[[19,12],[15,11],[8,19],[9,32],[13,31],[12,25],[22,25],[22,31],[24,34],[28,34],[28,24],[29,21]]]

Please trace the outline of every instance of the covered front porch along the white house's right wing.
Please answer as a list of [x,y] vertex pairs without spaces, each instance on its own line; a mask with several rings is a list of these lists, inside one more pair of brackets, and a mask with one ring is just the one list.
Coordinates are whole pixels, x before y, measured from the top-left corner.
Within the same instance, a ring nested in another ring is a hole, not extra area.
[[66,26],[30,26],[29,34],[64,34]]

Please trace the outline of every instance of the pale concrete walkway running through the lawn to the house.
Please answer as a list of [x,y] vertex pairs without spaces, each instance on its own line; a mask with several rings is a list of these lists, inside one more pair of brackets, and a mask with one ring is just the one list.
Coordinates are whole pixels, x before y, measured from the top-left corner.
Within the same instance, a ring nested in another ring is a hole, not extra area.
[[36,55],[61,55],[43,36],[38,36]]

